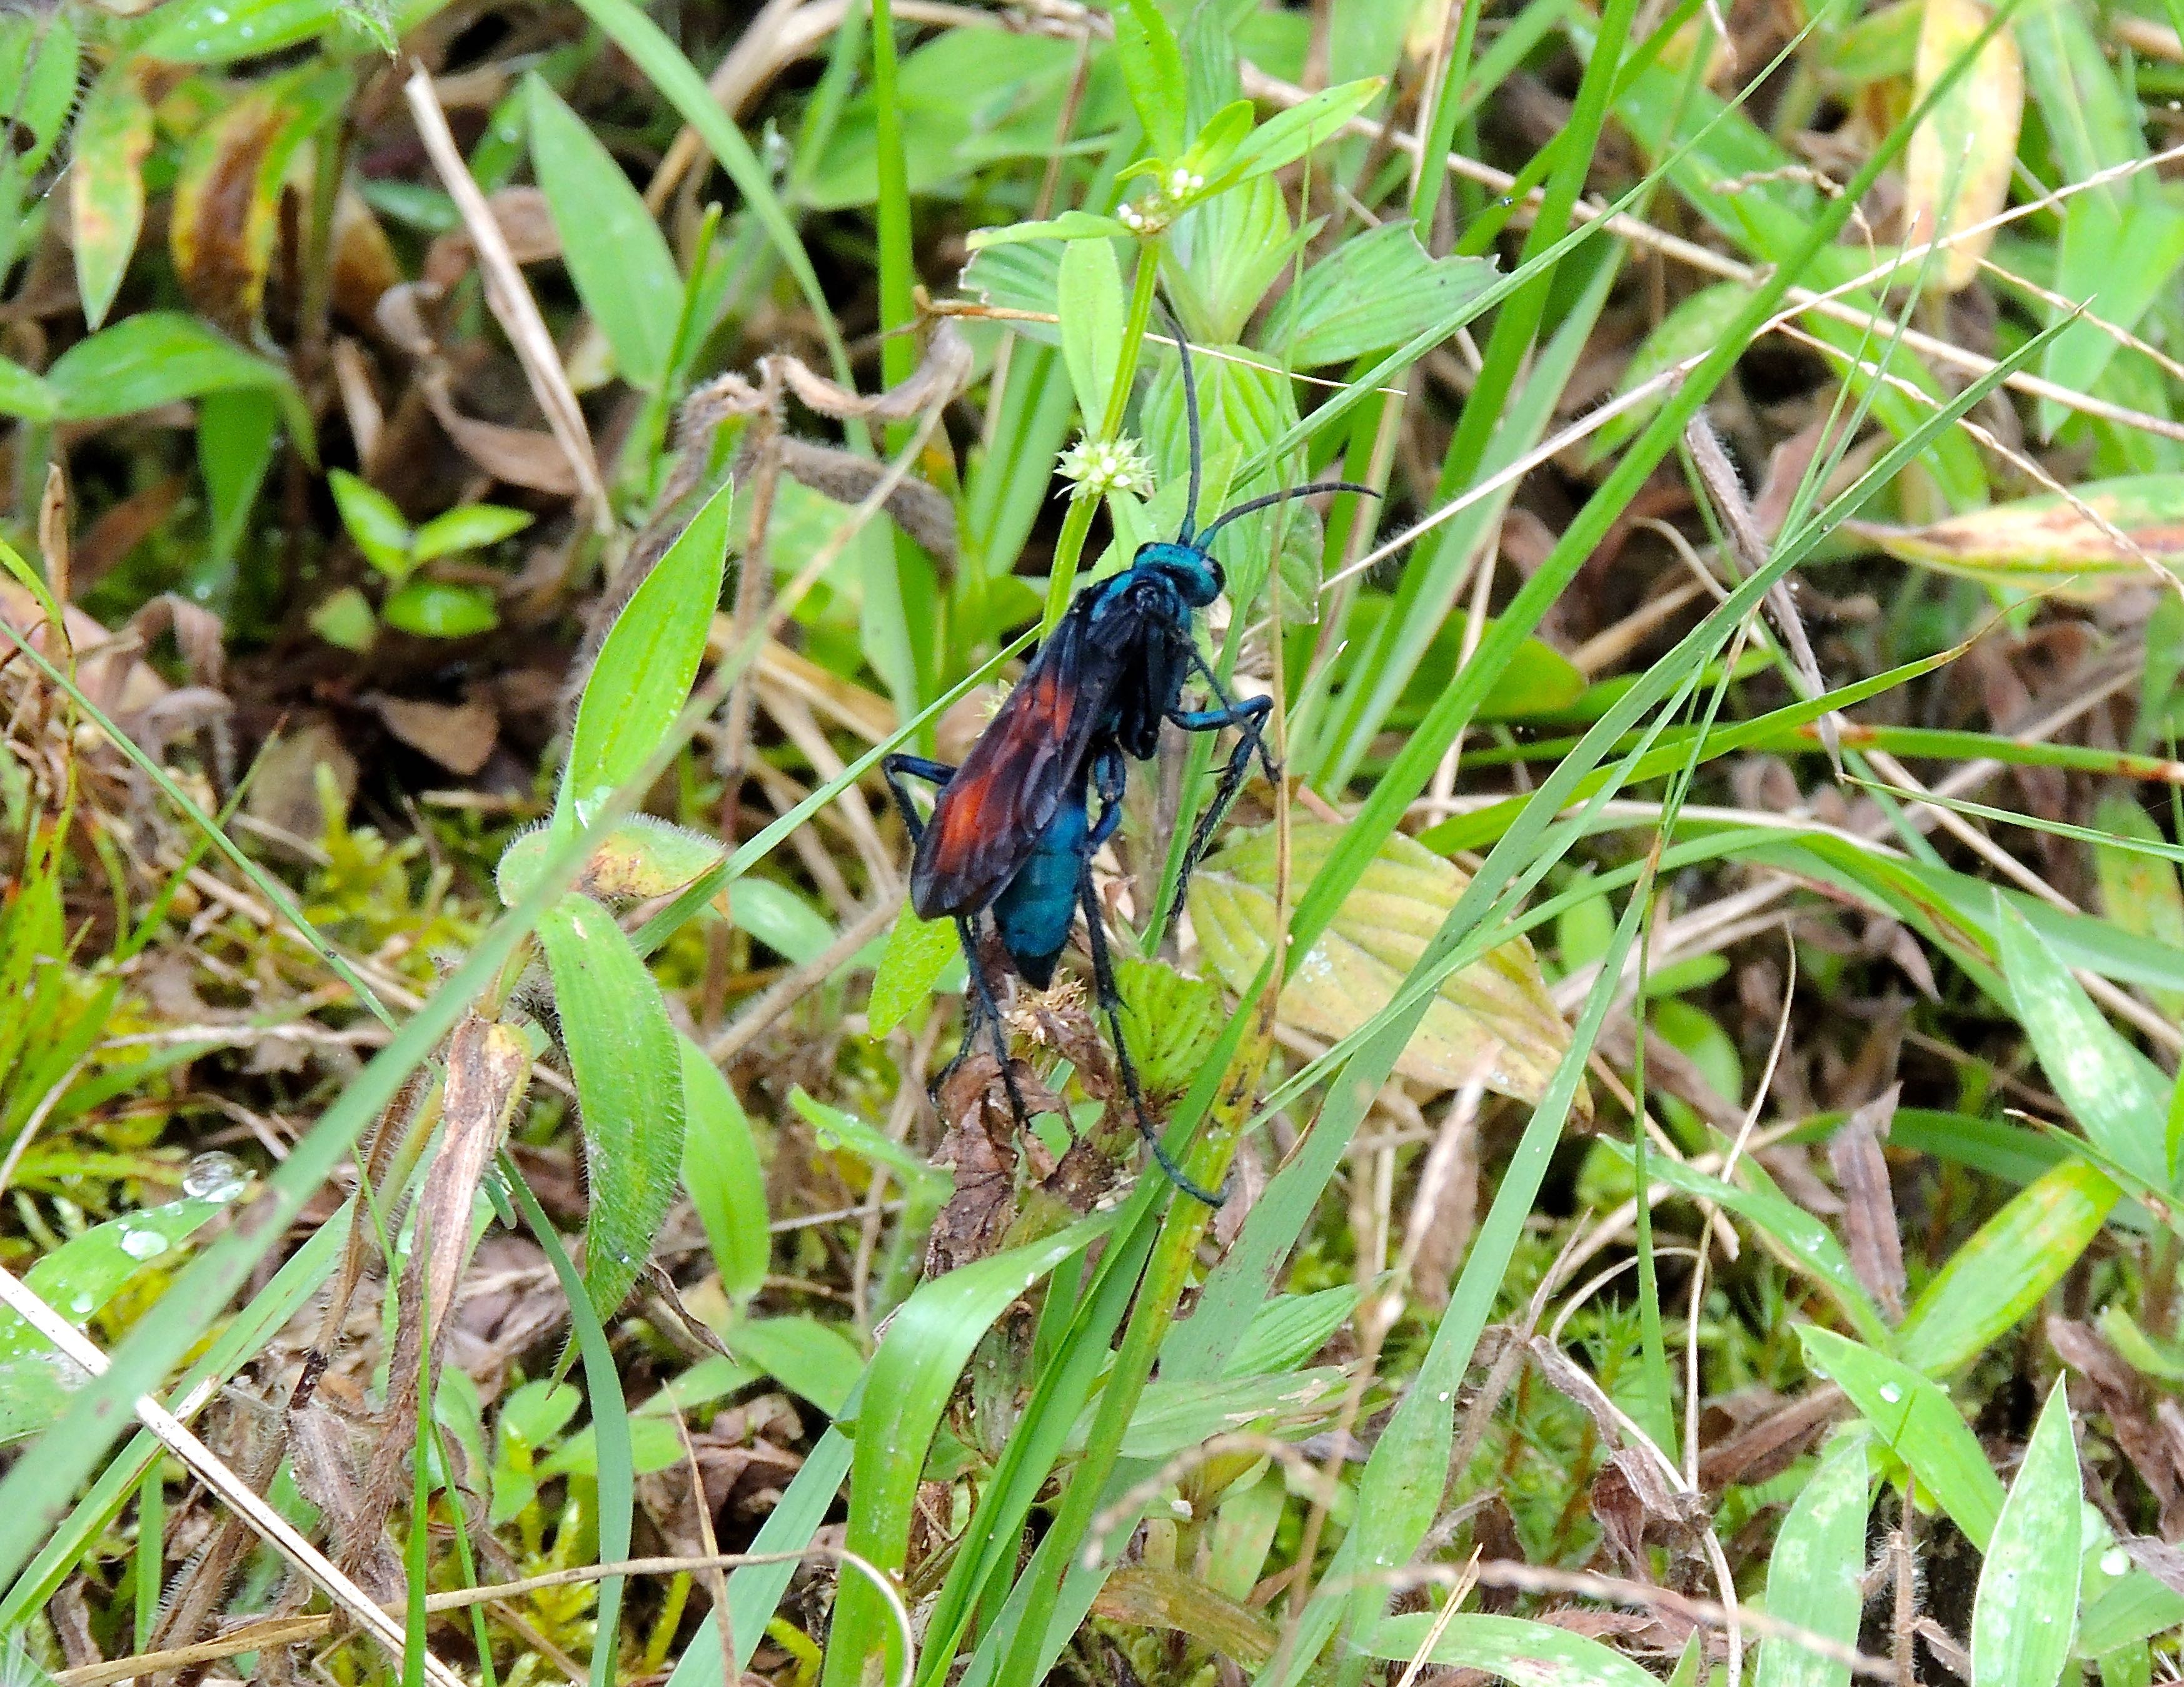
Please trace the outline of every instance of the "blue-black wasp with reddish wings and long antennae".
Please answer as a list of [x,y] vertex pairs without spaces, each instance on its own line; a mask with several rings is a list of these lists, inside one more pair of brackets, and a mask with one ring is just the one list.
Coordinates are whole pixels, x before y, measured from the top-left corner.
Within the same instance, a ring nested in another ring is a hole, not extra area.
[[[889,756],[885,771],[915,839],[911,907],[922,920],[957,922],[972,979],[963,1047],[972,1047],[978,1029],[992,1031],[1018,1128],[1026,1123],[1026,1112],[1009,1066],[1000,1005],[978,964],[978,922],[994,916],[1009,964],[1026,983],[1044,990],[1077,911],[1083,909],[1092,990],[1114,1038],[1116,1066],[1138,1117],[1138,1132],[1177,1189],[1219,1206],[1221,1195],[1192,1182],[1168,1154],[1144,1106],[1144,1090],[1123,1040],[1123,996],[1092,892],[1092,857],[1120,826],[1129,760],[1153,758],[1162,721],[1173,721],[1184,732],[1236,730],[1236,747],[1221,769],[1214,798],[1190,833],[1175,887],[1177,905],[1251,760],[1267,769],[1269,780],[1282,778],[1265,739],[1273,701],[1230,697],[1192,636],[1192,612],[1210,605],[1225,586],[1221,564],[1212,557],[1214,535],[1241,516],[1286,498],[1313,492],[1378,494],[1350,481],[1319,481],[1249,498],[1199,529],[1199,396],[1190,345],[1173,315],[1168,326],[1182,356],[1190,439],[1190,492],[1182,531],[1173,542],[1138,546],[1127,568],[1094,581],[1070,601],[961,767],[924,756]],[[1212,708],[1182,706],[1184,682],[1192,673],[1212,693]],[[917,817],[904,787],[906,776],[937,787],[928,819]]]

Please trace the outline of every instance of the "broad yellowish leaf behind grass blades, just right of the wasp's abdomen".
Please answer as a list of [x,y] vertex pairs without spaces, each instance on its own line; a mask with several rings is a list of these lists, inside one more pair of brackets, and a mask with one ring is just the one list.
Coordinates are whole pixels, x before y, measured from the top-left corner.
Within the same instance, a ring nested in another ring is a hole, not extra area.
[[[1308,885],[1343,828],[1291,828],[1291,881]],[[1273,933],[1271,830],[1210,857],[1190,881],[1190,920],[1206,964],[1230,990],[1249,988]],[[1280,1018],[1310,1036],[1343,1038],[1387,1007],[1424,955],[1470,876],[1409,837],[1391,837],[1328,931],[1282,990]],[[1441,981],[1396,1071],[1424,1084],[1483,1082],[1496,1095],[1538,1101],[1570,1027],[1546,992],[1524,937]]]

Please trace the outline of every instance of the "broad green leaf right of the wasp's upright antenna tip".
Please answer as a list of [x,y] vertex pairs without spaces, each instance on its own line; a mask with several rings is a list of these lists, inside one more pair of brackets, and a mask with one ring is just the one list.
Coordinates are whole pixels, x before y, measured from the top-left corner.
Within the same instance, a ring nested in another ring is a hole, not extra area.
[[1260,341],[1297,369],[1348,363],[1428,328],[1452,334],[1492,284],[1489,258],[1428,258],[1409,223],[1382,223],[1306,269]]

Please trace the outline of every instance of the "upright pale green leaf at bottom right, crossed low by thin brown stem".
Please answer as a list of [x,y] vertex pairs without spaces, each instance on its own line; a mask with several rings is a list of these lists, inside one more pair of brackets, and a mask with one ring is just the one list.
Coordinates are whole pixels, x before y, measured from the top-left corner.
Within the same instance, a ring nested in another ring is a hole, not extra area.
[[[1835,1442],[1791,1501],[1767,1554],[1767,1615],[1856,1645],[1865,1606],[1865,1436]],[[1797,1641],[1760,1641],[1752,1687],[1850,1687],[1850,1665]]]

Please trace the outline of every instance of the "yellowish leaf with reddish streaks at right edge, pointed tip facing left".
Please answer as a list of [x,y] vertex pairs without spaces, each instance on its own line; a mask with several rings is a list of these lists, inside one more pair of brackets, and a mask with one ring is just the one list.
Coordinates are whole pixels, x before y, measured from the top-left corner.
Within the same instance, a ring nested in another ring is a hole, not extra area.
[[2184,568],[2184,474],[2092,481],[2070,498],[2016,498],[1926,527],[1845,527],[1900,562],[2092,603],[2145,577],[2147,557]]

